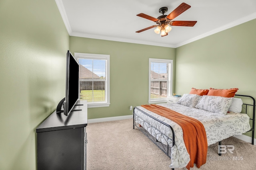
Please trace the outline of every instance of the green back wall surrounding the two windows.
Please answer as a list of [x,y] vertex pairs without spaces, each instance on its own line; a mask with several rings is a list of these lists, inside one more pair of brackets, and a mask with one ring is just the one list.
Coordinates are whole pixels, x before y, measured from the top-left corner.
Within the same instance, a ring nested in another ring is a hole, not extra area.
[[70,51],[110,55],[110,106],[88,108],[88,119],[132,115],[130,106],[148,104],[149,58],[172,59],[175,75],[174,48],[71,36]]

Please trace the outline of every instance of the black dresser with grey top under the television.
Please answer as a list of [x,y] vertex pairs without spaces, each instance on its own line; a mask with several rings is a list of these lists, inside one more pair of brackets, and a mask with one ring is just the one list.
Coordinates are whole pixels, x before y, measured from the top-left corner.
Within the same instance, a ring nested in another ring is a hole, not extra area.
[[54,111],[37,128],[38,170],[86,170],[87,102],[77,102],[80,111]]

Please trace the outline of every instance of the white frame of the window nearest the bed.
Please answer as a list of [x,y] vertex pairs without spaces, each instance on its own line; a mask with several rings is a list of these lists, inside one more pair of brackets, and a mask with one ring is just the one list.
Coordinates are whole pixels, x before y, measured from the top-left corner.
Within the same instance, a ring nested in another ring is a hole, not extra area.
[[167,90],[167,96],[172,96],[172,74],[173,74],[173,60],[169,59],[149,59],[149,69],[148,69],[148,103],[153,104],[153,103],[163,103],[167,102],[167,96],[166,98],[161,98],[161,99],[151,99],[150,94],[151,94],[151,62],[158,62],[158,63],[169,63],[170,64],[170,74],[168,77],[169,85],[168,85],[168,90]]

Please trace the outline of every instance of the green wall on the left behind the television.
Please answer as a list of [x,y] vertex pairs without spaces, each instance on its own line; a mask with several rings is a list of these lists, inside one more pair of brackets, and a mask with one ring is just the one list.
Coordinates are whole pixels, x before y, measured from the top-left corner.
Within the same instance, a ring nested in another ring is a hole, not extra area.
[[36,127],[65,95],[68,49],[54,0],[0,0],[0,170],[36,170]]

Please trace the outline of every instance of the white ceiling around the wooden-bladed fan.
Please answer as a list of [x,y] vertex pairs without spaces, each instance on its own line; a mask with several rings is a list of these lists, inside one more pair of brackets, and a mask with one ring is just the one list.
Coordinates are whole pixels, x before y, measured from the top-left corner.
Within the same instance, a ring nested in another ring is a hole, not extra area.
[[[156,25],[136,16],[170,14],[182,2],[190,5],[175,20],[197,21],[194,27],[172,26],[167,36],[154,33]],[[256,18],[256,0],[56,0],[69,35],[163,47],[180,47]]]

